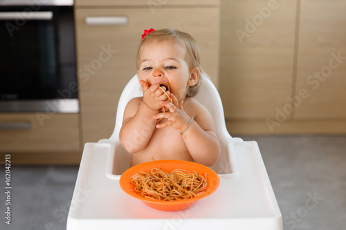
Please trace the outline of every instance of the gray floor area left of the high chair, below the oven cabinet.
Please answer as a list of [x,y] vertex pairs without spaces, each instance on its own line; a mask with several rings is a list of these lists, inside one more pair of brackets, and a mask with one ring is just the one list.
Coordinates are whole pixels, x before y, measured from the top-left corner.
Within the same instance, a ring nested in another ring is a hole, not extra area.
[[[12,166],[12,220],[0,229],[66,229],[78,166]],[[1,178],[3,171],[1,170]],[[3,213],[1,197],[1,213]]]

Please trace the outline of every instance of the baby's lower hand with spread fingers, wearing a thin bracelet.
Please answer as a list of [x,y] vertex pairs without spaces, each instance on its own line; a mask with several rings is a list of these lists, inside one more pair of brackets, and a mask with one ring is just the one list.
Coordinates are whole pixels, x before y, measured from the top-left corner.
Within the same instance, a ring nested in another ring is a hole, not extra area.
[[190,117],[185,113],[183,109],[183,101],[178,102],[173,93],[170,94],[172,103],[167,101],[161,101],[161,106],[168,108],[165,113],[158,113],[154,116],[154,119],[167,118],[166,122],[156,124],[156,128],[165,128],[172,126],[178,131],[183,131],[190,121]]

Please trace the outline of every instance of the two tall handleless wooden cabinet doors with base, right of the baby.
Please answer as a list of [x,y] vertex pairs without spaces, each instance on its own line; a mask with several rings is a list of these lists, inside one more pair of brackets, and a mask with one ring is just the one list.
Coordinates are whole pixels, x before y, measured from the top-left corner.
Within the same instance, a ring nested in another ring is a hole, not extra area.
[[345,8],[221,1],[220,94],[231,135],[346,132]]

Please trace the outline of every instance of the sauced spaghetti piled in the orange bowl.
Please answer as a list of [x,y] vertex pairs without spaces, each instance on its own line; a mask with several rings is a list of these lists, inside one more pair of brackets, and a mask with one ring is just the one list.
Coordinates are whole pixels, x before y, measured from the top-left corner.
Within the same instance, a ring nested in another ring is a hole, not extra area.
[[141,172],[134,175],[131,183],[139,195],[166,201],[194,198],[203,193],[207,187],[203,175],[182,169],[167,173],[154,168],[151,173]]

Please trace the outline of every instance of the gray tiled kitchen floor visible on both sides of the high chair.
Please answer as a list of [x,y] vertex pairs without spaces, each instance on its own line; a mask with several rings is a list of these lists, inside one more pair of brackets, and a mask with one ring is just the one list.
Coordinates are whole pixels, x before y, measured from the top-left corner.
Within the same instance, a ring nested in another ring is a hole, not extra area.
[[[285,230],[345,229],[346,136],[242,138],[260,146]],[[4,184],[3,165],[0,171]],[[12,166],[11,171],[11,225],[5,223],[1,193],[0,229],[66,229],[78,166]]]

